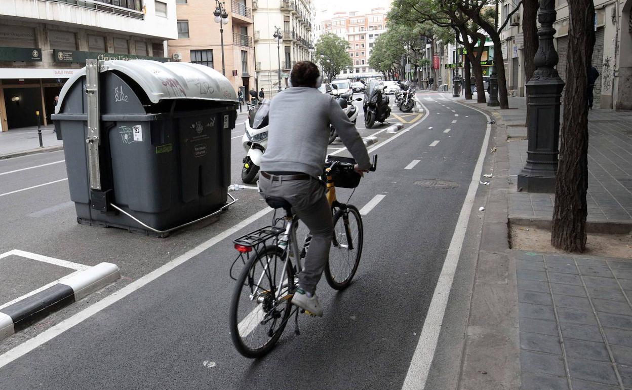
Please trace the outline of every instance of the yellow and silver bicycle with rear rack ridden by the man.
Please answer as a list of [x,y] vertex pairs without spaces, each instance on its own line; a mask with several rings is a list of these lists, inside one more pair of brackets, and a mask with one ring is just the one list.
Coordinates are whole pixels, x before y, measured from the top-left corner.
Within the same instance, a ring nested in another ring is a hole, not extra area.
[[[360,183],[361,176],[354,166],[354,159],[328,156],[323,174],[325,196],[334,216],[334,236],[324,272],[329,286],[337,290],[349,286],[362,256],[360,212],[354,205],[342,204],[336,198],[336,186],[356,188]],[[370,171],[376,168],[377,155],[374,155]],[[233,240],[239,254],[229,271],[230,277],[238,281],[229,314],[231,339],[239,353],[248,358],[258,358],[272,350],[292,315],[295,315],[295,333],[300,334],[298,314],[304,312],[293,306],[291,300],[298,287],[297,275],[303,269],[302,260],[307,255],[311,237],[306,236],[303,248],[299,250],[296,241],[298,217],[292,214],[289,203],[276,197],[265,200],[275,209],[272,225]],[[276,217],[278,209],[285,210],[284,217]],[[247,260],[245,256],[248,256]],[[240,259],[245,267],[235,278],[233,267]]]

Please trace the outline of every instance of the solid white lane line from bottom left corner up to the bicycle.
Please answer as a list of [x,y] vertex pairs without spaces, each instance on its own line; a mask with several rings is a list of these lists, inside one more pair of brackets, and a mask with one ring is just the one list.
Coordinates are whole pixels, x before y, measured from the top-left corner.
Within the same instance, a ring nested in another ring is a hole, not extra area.
[[149,272],[149,274],[143,277],[140,277],[139,279],[133,281],[127,286],[119,289],[118,291],[116,291],[116,293],[106,296],[99,302],[88,306],[87,308],[83,309],[81,312],[78,312],[72,317],[63,320],[62,322],[59,322],[59,324],[47,329],[46,331],[38,334],[37,336],[31,339],[28,339],[27,341],[25,341],[24,343],[21,343],[15,348],[9,351],[6,351],[5,353],[3,353],[3,355],[0,355],[0,368],[4,367],[8,363],[13,362],[13,360],[20,358],[20,356],[23,356],[27,354],[28,352],[34,350],[35,348],[46,343],[47,341],[53,338],[56,338],[57,336],[59,336],[59,334],[62,334],[63,332],[70,329],[71,327],[77,324],[80,324],[81,322],[83,322],[83,320],[86,320],[92,317],[92,315],[95,315],[101,310],[103,310],[104,308],[109,307],[110,305],[112,305],[112,303],[116,303],[119,300],[125,298],[126,296],[130,295],[137,289],[141,288],[142,286],[145,286],[145,284],[150,283],[151,281],[154,281],[158,277],[161,277],[162,275],[171,271],[175,267],[178,267],[178,265],[187,262],[192,257],[195,257],[199,255],[200,253],[204,252],[205,250],[209,249],[210,247],[213,247],[214,245],[221,242],[225,238],[228,238],[234,235],[234,233],[237,233],[238,231],[245,228],[252,222],[257,221],[257,219],[265,216],[265,214],[268,214],[270,211],[272,211],[270,207],[265,207],[265,209],[262,209],[256,212],[252,216],[234,225],[232,228],[229,228],[223,231],[222,233],[219,233],[219,235],[216,235],[213,238],[210,238],[209,240],[204,241],[197,247],[191,250],[188,250],[187,252],[183,253],[182,255],[179,255],[178,257],[171,260],[167,264],[162,265],[162,267],[159,267],[155,269],[154,271]]

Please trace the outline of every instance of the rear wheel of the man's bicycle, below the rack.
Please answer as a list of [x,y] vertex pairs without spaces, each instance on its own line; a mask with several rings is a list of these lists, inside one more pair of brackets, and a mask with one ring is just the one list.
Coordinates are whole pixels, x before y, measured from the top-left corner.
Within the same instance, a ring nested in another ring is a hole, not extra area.
[[238,277],[229,326],[235,348],[247,358],[258,358],[272,350],[288,322],[295,279],[288,262],[283,285],[278,286],[284,264],[283,250],[269,245],[250,257]]

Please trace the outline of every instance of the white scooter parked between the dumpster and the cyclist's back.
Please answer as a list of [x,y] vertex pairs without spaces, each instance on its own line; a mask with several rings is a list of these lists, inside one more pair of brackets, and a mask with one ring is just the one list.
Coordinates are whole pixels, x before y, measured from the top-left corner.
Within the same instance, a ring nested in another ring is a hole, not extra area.
[[260,104],[248,111],[248,120],[244,122],[245,133],[241,144],[246,150],[241,168],[241,181],[253,183],[261,166],[261,156],[268,144],[268,112],[270,99],[263,99]]

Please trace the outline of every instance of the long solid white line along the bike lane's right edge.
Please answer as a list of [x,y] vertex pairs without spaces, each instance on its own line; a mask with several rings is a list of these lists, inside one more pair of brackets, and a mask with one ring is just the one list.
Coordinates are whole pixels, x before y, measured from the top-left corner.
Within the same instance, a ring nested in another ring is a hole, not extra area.
[[[465,106],[465,104],[461,105]],[[489,116],[483,113],[483,111],[473,107],[469,108],[485,115],[488,122],[491,121]],[[426,319],[423,324],[422,334],[419,336],[415,354],[413,355],[410,367],[408,367],[408,373],[404,379],[403,390],[423,390],[425,388],[428,372],[430,372],[430,365],[432,364],[432,359],[434,358],[437,348],[443,317],[444,314],[446,314],[447,300],[450,296],[450,290],[454,281],[454,272],[456,272],[456,266],[459,262],[472,205],[474,204],[474,198],[478,190],[478,178],[480,178],[483,172],[483,161],[485,161],[491,130],[492,126],[488,123],[487,130],[485,130],[485,138],[483,138],[483,145],[481,145],[480,153],[478,154],[478,161],[474,168],[474,173],[472,173],[470,187],[465,195],[465,201],[461,207],[459,219],[456,221],[450,246],[447,249],[446,259],[443,262],[441,274],[439,274],[439,281],[437,281],[437,286],[435,286],[435,291],[430,301],[430,307],[428,308],[428,313],[426,314]]]

